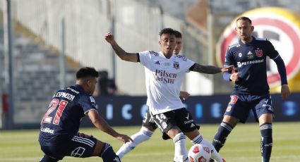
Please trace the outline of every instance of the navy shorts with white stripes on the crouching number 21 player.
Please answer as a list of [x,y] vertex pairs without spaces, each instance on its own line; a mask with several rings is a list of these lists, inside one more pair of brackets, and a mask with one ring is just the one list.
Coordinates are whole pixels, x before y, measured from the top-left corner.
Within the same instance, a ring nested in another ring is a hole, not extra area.
[[64,156],[86,158],[92,156],[97,144],[97,139],[90,135],[78,132],[70,141],[61,145],[41,145],[47,156],[61,160]]

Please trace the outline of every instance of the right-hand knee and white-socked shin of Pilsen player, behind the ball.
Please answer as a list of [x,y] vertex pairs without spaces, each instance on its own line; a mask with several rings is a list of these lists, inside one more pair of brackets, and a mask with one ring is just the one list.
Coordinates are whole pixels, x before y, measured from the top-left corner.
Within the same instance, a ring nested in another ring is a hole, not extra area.
[[202,137],[198,130],[193,130],[192,132],[184,132],[184,134],[191,139],[192,144],[205,144],[205,146],[209,147],[210,150],[212,151],[212,159],[215,159],[217,162],[222,162],[222,158],[220,154],[217,153],[215,150],[215,147],[212,146],[210,142],[208,142],[207,139]]

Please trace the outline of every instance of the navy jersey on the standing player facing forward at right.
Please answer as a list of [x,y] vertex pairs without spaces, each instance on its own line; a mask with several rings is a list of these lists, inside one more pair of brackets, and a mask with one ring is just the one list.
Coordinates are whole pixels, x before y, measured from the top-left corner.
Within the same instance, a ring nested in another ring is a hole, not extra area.
[[[242,94],[265,94],[269,91],[267,82],[267,56],[277,64],[282,85],[287,85],[287,75],[282,58],[267,39],[253,37],[252,42],[239,42],[229,46],[224,66],[234,65],[239,72],[239,80],[235,82],[234,92]],[[283,65],[282,65],[283,64]],[[224,73],[229,80],[231,72]]]

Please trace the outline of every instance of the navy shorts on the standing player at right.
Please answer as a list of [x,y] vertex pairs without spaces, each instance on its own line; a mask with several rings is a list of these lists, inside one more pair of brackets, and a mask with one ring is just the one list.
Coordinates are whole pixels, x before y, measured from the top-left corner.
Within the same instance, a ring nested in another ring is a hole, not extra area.
[[256,120],[265,114],[274,114],[270,94],[250,95],[232,94],[224,115],[233,116],[241,123],[246,123],[250,111],[253,111]]

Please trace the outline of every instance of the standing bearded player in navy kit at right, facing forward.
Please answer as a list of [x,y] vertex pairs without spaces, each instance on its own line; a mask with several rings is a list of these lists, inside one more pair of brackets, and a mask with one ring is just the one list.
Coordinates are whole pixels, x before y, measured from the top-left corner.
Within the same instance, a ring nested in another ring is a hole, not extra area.
[[273,107],[267,82],[267,56],[277,64],[282,99],[286,99],[290,94],[284,61],[271,42],[252,36],[254,27],[249,18],[237,18],[235,30],[240,39],[227,49],[224,67],[234,65],[237,71],[223,74],[224,80],[232,81],[235,85],[212,144],[220,151],[236,124],[245,123],[252,110],[260,125],[262,161],[270,161]]

